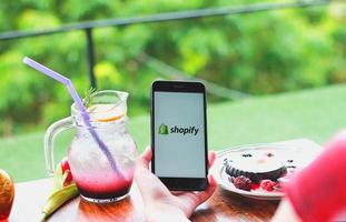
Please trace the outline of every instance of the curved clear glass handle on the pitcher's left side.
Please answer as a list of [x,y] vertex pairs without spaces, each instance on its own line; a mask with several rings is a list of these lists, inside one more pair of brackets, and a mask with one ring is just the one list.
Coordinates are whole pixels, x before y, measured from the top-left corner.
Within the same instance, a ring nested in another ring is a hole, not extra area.
[[45,158],[49,175],[55,174],[55,139],[60,132],[73,127],[73,118],[69,117],[52,123],[47,129],[45,134]]

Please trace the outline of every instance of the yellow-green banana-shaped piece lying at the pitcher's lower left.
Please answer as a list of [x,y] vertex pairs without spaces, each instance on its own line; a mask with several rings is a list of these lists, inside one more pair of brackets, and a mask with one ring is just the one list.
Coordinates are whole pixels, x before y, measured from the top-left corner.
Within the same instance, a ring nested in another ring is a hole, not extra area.
[[76,183],[63,186],[56,192],[53,192],[47,200],[42,209],[42,220],[45,221],[49,215],[51,215],[56,210],[58,210],[68,200],[78,195],[78,189]]

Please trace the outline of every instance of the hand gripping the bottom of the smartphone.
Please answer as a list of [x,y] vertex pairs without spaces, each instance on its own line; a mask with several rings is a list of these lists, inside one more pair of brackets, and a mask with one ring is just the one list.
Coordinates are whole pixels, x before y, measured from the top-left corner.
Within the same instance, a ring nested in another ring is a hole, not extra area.
[[[166,185],[149,170],[152,152],[150,148],[138,158],[135,180],[141,192],[146,218],[148,221],[189,221],[195,209],[208,200],[217,183],[209,174],[209,186],[205,191],[170,192]],[[208,155],[208,167],[215,161],[215,152]]]

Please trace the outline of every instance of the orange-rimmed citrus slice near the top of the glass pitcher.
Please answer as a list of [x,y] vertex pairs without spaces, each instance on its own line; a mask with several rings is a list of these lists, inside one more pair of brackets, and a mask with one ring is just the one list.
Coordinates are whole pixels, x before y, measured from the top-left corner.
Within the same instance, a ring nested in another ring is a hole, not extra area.
[[93,104],[88,108],[88,111],[93,122],[111,122],[121,119],[126,108],[121,104]]

